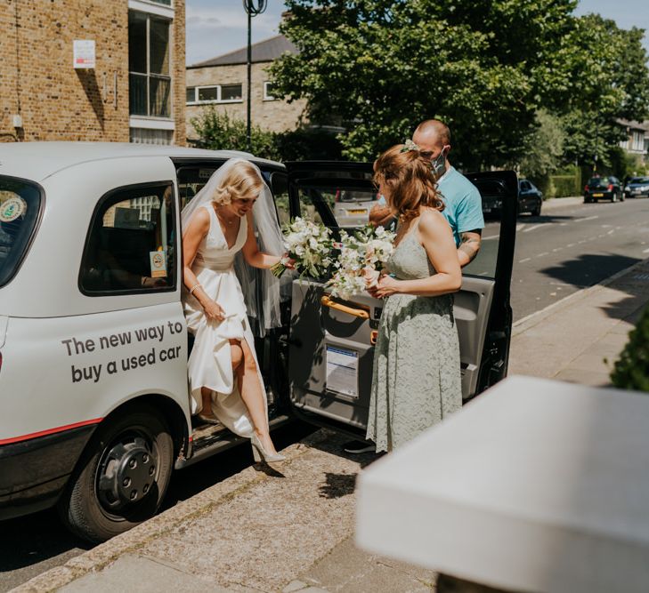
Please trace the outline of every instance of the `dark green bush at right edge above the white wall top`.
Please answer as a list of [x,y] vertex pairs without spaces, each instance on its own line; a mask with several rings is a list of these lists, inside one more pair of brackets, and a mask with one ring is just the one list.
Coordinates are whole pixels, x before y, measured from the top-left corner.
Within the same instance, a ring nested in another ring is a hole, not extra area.
[[629,333],[629,342],[615,363],[611,381],[621,389],[649,391],[649,307]]

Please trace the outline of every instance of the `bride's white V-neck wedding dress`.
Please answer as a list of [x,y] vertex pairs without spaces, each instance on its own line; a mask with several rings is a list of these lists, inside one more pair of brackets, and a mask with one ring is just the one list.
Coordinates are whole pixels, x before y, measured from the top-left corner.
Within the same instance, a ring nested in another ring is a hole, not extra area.
[[[240,218],[239,232],[228,247],[223,230],[211,205],[201,206],[209,212],[209,230],[199,244],[191,269],[203,290],[214,299],[225,313],[223,321],[208,320],[199,301],[188,291],[183,292],[187,327],[194,335],[194,347],[188,362],[191,413],[199,413],[202,406],[200,389],[213,390],[212,411],[216,418],[241,437],[251,437],[253,423],[246,405],[239,395],[231,365],[230,340],[245,340],[255,356],[255,339],[247,319],[246,303],[239,279],[234,272],[234,258],[246,243],[247,217]],[[264,380],[257,364],[257,374],[264,394]]]

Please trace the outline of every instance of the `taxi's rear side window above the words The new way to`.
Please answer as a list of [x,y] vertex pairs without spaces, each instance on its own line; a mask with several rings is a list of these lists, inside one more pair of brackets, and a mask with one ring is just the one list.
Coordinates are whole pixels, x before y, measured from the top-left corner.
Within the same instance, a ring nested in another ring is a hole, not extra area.
[[170,182],[103,196],[85,241],[79,287],[89,296],[175,288],[174,188]]

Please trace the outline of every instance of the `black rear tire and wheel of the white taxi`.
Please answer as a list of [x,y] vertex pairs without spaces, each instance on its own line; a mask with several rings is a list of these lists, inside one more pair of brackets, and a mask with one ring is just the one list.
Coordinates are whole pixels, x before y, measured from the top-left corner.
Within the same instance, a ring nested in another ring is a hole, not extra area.
[[[137,405],[105,422],[86,446],[58,505],[69,529],[93,543],[156,514],[174,461],[173,439],[154,408]],[[135,501],[126,500],[128,494]]]

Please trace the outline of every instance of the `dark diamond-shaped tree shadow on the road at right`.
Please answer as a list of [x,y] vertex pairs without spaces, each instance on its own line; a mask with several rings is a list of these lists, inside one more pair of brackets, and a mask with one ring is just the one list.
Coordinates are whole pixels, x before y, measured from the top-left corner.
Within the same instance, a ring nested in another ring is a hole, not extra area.
[[588,288],[638,261],[637,258],[615,253],[584,253],[574,260],[562,261],[556,266],[540,269],[539,272],[564,284]]

